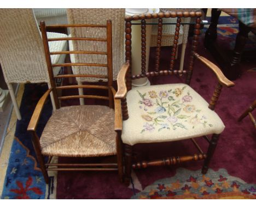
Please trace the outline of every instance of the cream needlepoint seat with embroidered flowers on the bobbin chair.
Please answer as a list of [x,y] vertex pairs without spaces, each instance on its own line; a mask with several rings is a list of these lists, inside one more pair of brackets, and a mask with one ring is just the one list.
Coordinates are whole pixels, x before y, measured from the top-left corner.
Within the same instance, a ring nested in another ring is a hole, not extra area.
[[221,133],[225,126],[208,103],[187,84],[138,87],[127,93],[125,144],[168,142]]

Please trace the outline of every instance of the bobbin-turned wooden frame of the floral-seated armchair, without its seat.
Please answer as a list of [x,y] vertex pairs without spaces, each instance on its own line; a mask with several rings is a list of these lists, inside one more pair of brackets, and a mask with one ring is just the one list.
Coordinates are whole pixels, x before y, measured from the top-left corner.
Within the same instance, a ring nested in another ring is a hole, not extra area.
[[[160,52],[161,52],[161,30],[162,30],[162,18],[168,17],[177,17],[177,24],[176,24],[176,32],[175,38],[172,47],[171,53],[171,62],[170,68],[168,70],[159,70],[159,60],[160,60]],[[176,57],[177,52],[177,42],[178,42],[178,35],[179,35],[179,26],[181,25],[181,17],[195,17],[195,29],[194,29],[194,36],[193,36],[193,44],[190,54],[190,61],[189,61],[189,70],[173,70],[174,60]],[[201,57],[199,54],[196,53],[196,48],[199,40],[200,35],[200,27],[201,27],[201,12],[167,12],[167,13],[154,13],[154,14],[142,14],[142,15],[134,15],[134,16],[126,16],[125,17],[125,55],[126,55],[126,63],[121,68],[119,75],[118,75],[118,91],[115,94],[115,100],[121,101],[121,109],[122,109],[122,117],[123,120],[127,120],[129,118],[129,112],[127,109],[127,102],[126,102],[126,94],[127,91],[131,90],[131,81],[132,79],[143,78],[143,77],[155,77],[155,76],[169,76],[169,75],[179,75],[182,76],[183,74],[187,75],[186,84],[190,84],[191,76],[193,74],[193,65],[194,60],[200,60],[203,64],[208,66],[210,70],[214,72],[218,79],[218,84],[214,90],[213,96],[210,101],[210,105],[208,106],[210,109],[214,110],[216,103],[218,101],[218,97],[222,90],[222,87],[232,87],[234,83],[227,79],[222,71],[207,60],[206,58]],[[146,72],[146,20],[147,19],[159,19],[158,23],[158,46],[156,47],[156,57],[155,57],[155,71]],[[141,20],[141,40],[142,40],[142,68],[141,74],[133,75],[131,74],[131,26],[132,21]],[[122,121],[117,120],[117,124],[115,124],[115,131],[121,135],[122,132]],[[203,136],[204,139],[210,144],[208,147],[207,153],[203,152],[200,146],[195,142],[192,138],[192,142],[195,144],[196,148],[199,150],[199,154],[189,155],[189,156],[174,156],[163,158],[162,160],[153,160],[153,161],[139,161],[132,163],[132,146],[125,144],[125,175],[124,175],[124,182],[128,185],[130,183],[131,177],[131,168],[146,168],[150,166],[166,166],[171,164],[177,164],[186,161],[197,161],[197,160],[205,160],[202,167],[202,173],[206,174],[208,170],[208,166],[213,155],[213,152],[216,148],[219,134],[213,134],[212,139],[210,140],[207,136]]]

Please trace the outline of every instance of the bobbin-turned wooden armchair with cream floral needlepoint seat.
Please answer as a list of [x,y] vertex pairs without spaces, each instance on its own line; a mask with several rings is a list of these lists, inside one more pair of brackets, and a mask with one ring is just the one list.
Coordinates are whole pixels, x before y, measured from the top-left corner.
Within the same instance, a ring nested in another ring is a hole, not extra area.
[[[160,68],[162,18],[177,17],[176,33],[170,54],[170,68]],[[193,45],[189,59],[189,70],[174,70],[174,60],[179,37],[181,17],[196,17]],[[220,69],[209,60],[196,53],[197,41],[200,34],[200,12],[168,12],[145,14],[125,17],[125,44],[126,63],[118,75],[118,91],[115,99],[121,101],[123,121],[115,124],[115,131],[121,137],[124,145],[125,172],[124,182],[129,184],[132,168],[146,168],[177,164],[186,161],[204,160],[202,173],[206,174],[210,160],[216,148],[224,124],[214,112],[222,87],[232,87]],[[146,20],[158,19],[158,46],[156,47],[155,70],[146,72]],[[142,71],[139,75],[131,75],[131,25],[133,20],[141,20],[142,40]],[[197,59],[214,72],[218,83],[214,90],[210,104],[208,104],[190,84],[194,60]],[[133,79],[142,77],[187,75],[184,83],[150,85],[131,88]],[[212,134],[210,140],[207,135]],[[196,143],[196,137],[205,138],[210,145],[207,152],[203,152]],[[162,160],[136,161],[132,157],[133,146],[142,143],[173,142],[191,139],[199,150],[194,155],[173,156]]]

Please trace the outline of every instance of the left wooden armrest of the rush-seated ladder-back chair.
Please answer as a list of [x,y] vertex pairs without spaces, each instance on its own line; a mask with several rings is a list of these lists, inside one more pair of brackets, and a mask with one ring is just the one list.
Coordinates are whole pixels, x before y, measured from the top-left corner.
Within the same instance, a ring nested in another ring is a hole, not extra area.
[[44,103],[45,103],[48,95],[50,94],[51,90],[53,90],[53,88],[48,89],[44,93],[44,95],[40,98],[40,100],[38,101],[37,106],[34,109],[33,115],[30,119],[30,123],[28,124],[27,131],[36,131],[37,123],[38,123],[39,117],[42,113]]

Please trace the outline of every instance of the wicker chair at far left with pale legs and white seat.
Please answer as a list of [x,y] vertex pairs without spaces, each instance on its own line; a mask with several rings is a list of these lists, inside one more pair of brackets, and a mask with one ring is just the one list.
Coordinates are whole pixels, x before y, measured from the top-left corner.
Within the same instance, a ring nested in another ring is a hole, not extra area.
[[[32,9],[0,10],[0,62],[5,82],[17,117],[21,115],[12,83],[42,83],[51,87],[44,57],[42,37]],[[47,33],[50,38],[66,37],[66,34]],[[51,50],[66,50],[67,41],[51,42]],[[63,63],[65,54],[51,56],[53,63]],[[54,70],[58,74],[60,68]],[[53,101],[53,95],[51,95]],[[55,108],[55,106],[54,106]]]

